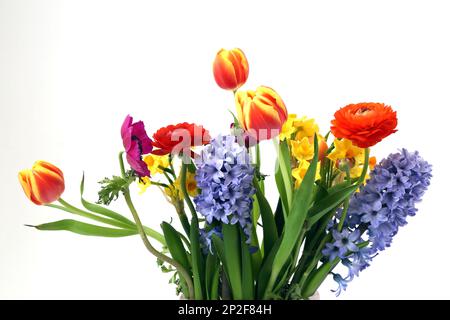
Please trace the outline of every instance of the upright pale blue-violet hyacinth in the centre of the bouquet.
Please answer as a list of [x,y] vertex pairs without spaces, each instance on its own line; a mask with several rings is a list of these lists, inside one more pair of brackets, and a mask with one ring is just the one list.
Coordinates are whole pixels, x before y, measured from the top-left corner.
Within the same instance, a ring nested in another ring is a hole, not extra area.
[[247,149],[236,142],[235,136],[218,136],[202,150],[195,163],[195,178],[201,190],[194,198],[197,211],[208,224],[239,223],[249,242],[255,189],[254,168]]

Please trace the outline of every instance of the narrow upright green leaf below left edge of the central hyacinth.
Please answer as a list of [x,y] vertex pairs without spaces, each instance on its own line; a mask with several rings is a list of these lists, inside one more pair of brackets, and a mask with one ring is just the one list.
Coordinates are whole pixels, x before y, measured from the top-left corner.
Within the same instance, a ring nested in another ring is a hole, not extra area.
[[194,278],[194,292],[196,300],[203,300],[203,276],[204,264],[203,256],[200,251],[198,220],[195,217],[191,221],[191,256],[192,256],[192,275]]

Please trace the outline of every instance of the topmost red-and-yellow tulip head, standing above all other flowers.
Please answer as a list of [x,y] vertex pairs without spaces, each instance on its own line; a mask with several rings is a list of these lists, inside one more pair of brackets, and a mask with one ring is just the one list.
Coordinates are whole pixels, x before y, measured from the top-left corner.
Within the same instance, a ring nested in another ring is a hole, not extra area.
[[241,49],[221,49],[213,63],[214,79],[225,90],[239,89],[248,78],[248,61]]

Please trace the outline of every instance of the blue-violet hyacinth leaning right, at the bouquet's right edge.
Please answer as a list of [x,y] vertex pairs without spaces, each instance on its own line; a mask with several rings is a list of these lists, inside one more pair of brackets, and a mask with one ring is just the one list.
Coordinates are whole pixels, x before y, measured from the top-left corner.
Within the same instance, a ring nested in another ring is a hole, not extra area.
[[344,258],[342,263],[348,268],[346,278],[336,277],[338,292],[345,290],[346,285],[342,285],[345,281],[358,276],[378,252],[391,245],[398,229],[406,225],[406,218],[416,214],[416,203],[421,201],[430,179],[431,165],[418,152],[410,153],[406,149],[390,154],[374,168],[366,185],[350,199],[344,224],[352,232],[361,231],[361,237],[352,239],[353,243],[368,240],[369,246],[348,250],[345,255],[343,245],[338,245],[342,234],[332,231],[334,242],[322,251],[330,260],[337,256]]

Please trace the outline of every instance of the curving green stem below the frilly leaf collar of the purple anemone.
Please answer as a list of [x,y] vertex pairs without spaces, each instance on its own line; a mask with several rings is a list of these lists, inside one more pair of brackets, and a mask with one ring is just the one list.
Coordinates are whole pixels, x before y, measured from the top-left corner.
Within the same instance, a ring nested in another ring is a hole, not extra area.
[[131,196],[129,190],[126,190],[124,192],[125,201],[128,205],[128,208],[130,209],[131,214],[133,215],[134,221],[136,223],[136,227],[138,229],[139,235],[141,236],[142,242],[144,243],[147,250],[153,254],[156,258],[165,261],[166,263],[172,265],[177,271],[179,272],[180,276],[184,278],[186,281],[186,285],[189,290],[189,298],[192,299],[194,297],[194,287],[192,284],[191,276],[189,275],[189,272],[177,261],[173,260],[172,258],[162,254],[158,250],[156,250],[150,241],[147,238],[147,234],[145,233],[144,227],[141,223],[141,219],[139,218],[139,215],[136,211],[136,208],[133,205],[133,202],[131,201]]

